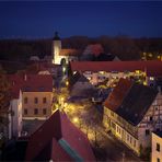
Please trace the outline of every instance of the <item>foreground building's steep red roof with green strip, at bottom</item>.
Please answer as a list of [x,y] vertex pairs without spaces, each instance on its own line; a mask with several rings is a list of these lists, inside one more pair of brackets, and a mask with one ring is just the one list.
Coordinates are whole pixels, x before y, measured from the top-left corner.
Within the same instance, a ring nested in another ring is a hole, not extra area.
[[33,135],[25,161],[95,161],[90,142],[58,109]]

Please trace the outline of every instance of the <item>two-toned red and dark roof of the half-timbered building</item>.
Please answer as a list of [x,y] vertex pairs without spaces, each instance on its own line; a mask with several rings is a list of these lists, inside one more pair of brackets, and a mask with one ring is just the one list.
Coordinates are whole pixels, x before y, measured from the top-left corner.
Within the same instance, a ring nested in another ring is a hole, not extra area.
[[137,126],[154,101],[158,91],[150,86],[120,79],[105,101],[105,107]]

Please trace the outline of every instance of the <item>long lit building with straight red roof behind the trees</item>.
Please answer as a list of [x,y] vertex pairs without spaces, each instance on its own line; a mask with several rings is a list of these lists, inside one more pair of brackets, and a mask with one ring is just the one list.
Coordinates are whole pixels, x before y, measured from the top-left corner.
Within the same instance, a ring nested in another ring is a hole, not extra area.
[[147,85],[154,85],[162,77],[161,61],[71,61],[72,72],[82,72],[94,85],[108,79],[107,86],[120,78],[134,79]]

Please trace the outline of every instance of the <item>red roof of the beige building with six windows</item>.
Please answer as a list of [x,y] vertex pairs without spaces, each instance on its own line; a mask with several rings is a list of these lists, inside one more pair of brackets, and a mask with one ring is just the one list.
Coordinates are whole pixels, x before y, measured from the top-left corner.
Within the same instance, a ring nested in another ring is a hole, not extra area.
[[23,92],[53,92],[51,76],[42,74],[9,74],[11,82],[11,95],[19,97],[20,90]]

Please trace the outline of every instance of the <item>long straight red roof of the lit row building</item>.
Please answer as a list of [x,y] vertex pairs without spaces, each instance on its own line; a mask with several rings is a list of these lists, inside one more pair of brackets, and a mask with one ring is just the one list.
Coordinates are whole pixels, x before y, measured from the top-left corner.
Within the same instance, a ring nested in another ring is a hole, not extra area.
[[148,77],[162,76],[162,61],[71,61],[72,71],[135,71],[142,70]]

